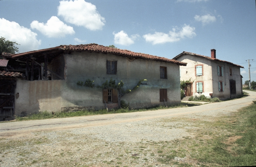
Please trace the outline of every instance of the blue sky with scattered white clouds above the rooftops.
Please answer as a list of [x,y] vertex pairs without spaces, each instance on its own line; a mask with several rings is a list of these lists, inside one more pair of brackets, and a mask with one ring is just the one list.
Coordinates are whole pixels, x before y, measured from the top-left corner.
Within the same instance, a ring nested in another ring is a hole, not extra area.
[[216,49],[245,67],[243,81],[250,59],[256,81],[255,0],[0,0],[0,36],[19,52],[97,43],[172,59]]

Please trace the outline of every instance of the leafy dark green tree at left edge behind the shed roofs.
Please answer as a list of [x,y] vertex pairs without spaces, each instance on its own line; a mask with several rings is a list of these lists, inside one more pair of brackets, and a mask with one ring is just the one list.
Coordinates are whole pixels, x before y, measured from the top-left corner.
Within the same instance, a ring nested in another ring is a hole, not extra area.
[[0,38],[0,57],[2,57],[2,52],[12,53],[19,52],[19,48],[15,46],[15,44],[19,45],[16,42],[11,42],[9,40],[5,41],[4,37]]

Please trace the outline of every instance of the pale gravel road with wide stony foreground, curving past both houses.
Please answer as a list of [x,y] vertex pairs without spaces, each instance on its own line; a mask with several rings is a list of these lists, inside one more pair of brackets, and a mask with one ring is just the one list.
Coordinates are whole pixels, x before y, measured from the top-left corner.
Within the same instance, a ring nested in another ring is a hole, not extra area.
[[[1,147],[0,164],[1,167],[166,166],[157,164],[157,159],[149,154],[154,147],[139,145],[193,137],[187,129],[194,127],[177,120],[213,121],[215,117],[229,115],[256,98],[256,92],[246,92],[250,96],[187,108],[0,123],[0,141],[6,147]],[[140,154],[139,148],[148,153]],[[113,158],[116,156],[121,158]]]

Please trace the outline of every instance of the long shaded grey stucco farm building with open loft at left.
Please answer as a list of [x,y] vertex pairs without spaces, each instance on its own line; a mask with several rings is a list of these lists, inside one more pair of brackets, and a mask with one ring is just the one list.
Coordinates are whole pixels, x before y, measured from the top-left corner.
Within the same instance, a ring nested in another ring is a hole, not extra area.
[[[106,80],[122,81],[136,91],[121,97],[132,108],[180,103],[180,66],[187,63],[98,44],[61,45],[13,54],[13,69],[24,70],[16,79],[15,115],[118,107],[120,92],[97,88]],[[11,61],[9,61],[11,62]],[[90,79],[95,87],[77,85]]]

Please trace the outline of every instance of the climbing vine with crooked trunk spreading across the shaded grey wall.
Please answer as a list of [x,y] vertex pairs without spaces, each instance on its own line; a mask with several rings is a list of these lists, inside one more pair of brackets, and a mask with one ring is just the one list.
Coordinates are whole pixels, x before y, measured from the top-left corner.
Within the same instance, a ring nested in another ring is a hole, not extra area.
[[140,87],[141,82],[143,81],[147,81],[147,79],[141,79],[134,88],[126,89],[126,90],[123,90],[123,86],[124,86],[123,81],[120,81],[118,84],[116,84],[116,80],[113,80],[112,78],[109,81],[106,80],[106,82],[104,82],[101,86],[100,85],[95,86],[95,84],[93,84],[94,81],[91,81],[90,79],[87,79],[85,83],[82,81],[78,81],[76,84],[79,86],[87,86],[90,88],[93,88],[93,87],[102,88],[102,89],[113,88],[113,89],[119,90],[120,95],[118,96],[118,105],[121,108],[121,103],[120,103],[121,97],[124,96],[126,93],[137,90]]

